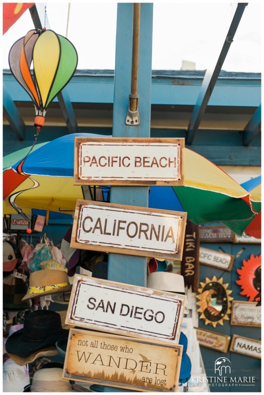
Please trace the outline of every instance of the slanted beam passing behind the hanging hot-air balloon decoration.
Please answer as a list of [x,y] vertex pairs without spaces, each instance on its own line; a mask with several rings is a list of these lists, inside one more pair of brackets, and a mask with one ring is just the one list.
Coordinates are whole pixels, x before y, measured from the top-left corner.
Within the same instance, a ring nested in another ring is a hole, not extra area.
[[[29,11],[30,11],[33,23],[34,23],[34,27],[36,29],[42,29],[43,27],[50,29],[48,16],[47,16],[47,14],[45,14],[46,10],[45,10],[44,3],[35,3],[29,9]],[[59,101],[63,117],[64,117],[66,125],[68,127],[68,132],[69,133],[77,133],[78,132],[77,122],[76,122],[72,102],[71,102],[70,96],[67,91],[67,87],[65,87],[57,95],[57,100]]]

